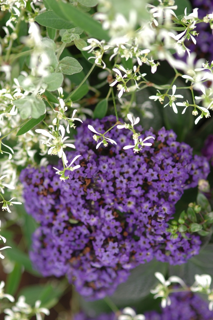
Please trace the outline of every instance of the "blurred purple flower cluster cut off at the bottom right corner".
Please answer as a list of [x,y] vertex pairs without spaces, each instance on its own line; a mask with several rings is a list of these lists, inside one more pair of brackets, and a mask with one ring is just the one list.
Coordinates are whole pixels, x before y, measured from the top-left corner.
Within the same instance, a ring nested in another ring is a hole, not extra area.
[[209,311],[208,302],[191,292],[178,292],[170,295],[171,305],[156,311],[146,312],[146,320],[212,320],[213,312]]

